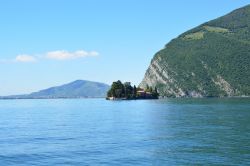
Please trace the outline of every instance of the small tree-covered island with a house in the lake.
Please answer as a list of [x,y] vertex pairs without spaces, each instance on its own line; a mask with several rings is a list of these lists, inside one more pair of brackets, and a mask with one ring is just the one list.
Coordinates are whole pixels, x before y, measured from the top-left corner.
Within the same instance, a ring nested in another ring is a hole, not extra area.
[[131,86],[130,82],[122,83],[120,80],[113,82],[107,92],[107,100],[137,100],[137,99],[158,99],[157,88],[147,86],[146,89]]

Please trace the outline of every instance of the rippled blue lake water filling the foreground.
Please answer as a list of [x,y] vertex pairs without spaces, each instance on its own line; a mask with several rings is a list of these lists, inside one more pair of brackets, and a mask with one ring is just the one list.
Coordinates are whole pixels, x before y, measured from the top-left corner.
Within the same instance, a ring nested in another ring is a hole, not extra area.
[[250,99],[0,100],[0,165],[250,165]]

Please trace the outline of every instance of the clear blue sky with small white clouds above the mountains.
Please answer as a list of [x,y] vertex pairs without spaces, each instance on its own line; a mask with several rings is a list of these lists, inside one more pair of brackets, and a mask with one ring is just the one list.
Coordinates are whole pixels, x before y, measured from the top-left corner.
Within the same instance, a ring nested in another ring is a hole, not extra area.
[[153,55],[250,0],[3,0],[0,95],[77,79],[138,85]]

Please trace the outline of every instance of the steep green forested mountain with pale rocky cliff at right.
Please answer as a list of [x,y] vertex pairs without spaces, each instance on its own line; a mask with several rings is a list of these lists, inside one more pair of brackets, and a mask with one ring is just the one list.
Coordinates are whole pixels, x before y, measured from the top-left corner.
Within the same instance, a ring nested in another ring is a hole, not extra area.
[[140,86],[167,97],[250,95],[250,6],[181,34],[155,54]]

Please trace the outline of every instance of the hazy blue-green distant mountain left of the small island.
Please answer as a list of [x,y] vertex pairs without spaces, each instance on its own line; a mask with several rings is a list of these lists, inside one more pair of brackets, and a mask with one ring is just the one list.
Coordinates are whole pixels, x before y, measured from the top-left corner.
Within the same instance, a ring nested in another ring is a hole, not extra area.
[[105,97],[109,88],[110,86],[104,83],[76,80],[28,95],[14,95],[1,98],[96,98]]

